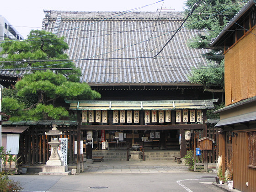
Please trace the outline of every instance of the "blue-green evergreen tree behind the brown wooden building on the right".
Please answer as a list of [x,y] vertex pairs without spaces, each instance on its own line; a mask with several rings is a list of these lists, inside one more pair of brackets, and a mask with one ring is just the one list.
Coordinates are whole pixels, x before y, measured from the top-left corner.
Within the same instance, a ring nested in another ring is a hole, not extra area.
[[[192,71],[188,77],[192,83],[200,83],[205,91],[224,92],[224,61],[223,50],[210,47],[210,43],[219,35],[225,25],[245,5],[246,0],[187,0],[185,13],[189,14],[197,3],[197,8],[187,20],[187,27],[198,30],[198,35],[188,42],[191,48],[206,48],[209,52],[204,56],[209,60],[205,67]],[[216,61],[219,65],[213,65],[210,61]],[[219,87],[218,90],[211,89]]]

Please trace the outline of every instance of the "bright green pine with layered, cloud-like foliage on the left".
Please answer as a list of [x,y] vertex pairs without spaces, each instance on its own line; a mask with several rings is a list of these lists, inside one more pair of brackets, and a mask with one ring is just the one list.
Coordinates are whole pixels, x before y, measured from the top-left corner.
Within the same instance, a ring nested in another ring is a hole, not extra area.
[[[0,61],[17,61],[1,62],[3,68],[72,68],[55,71],[35,70],[24,75],[15,85],[17,96],[9,94],[3,98],[2,105],[6,110],[3,112],[12,115],[10,120],[40,120],[47,116],[57,120],[69,115],[64,107],[56,106],[57,99],[94,100],[101,97],[98,92],[91,90],[89,85],[80,83],[80,69],[77,69],[64,53],[68,49],[64,37],[58,38],[46,31],[32,30],[26,40],[6,41],[1,43],[1,47],[3,51],[0,53]],[[47,61],[57,59],[66,61]],[[27,96],[36,97],[36,102],[28,106],[21,99]]]

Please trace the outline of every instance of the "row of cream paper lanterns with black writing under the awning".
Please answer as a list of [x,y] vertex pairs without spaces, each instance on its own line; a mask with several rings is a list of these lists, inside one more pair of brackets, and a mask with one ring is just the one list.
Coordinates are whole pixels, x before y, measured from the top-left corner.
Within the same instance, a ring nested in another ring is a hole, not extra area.
[[[88,123],[107,123],[107,111],[96,110],[94,113],[94,110],[82,110],[82,122],[87,123],[87,118]],[[145,123],[171,122],[171,110],[144,111],[144,121]],[[202,122],[202,110],[176,110],[176,123],[181,122]],[[139,123],[139,111],[113,111],[113,123]]]

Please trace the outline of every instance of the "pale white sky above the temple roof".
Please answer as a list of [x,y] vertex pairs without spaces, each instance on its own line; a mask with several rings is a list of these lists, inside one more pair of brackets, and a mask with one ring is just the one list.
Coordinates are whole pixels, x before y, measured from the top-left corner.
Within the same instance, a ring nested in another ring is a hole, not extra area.
[[[160,1],[160,2],[159,2]],[[41,29],[43,10],[57,11],[156,11],[171,8],[183,11],[186,0],[11,0],[0,6],[0,15],[26,38],[32,29]],[[156,3],[158,2],[158,3]]]

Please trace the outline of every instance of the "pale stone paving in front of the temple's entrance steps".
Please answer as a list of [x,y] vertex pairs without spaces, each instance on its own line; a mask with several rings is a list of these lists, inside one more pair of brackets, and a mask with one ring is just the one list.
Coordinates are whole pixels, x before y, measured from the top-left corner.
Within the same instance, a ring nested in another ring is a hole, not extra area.
[[190,172],[184,164],[174,161],[107,161],[88,165],[84,173],[170,173]]

